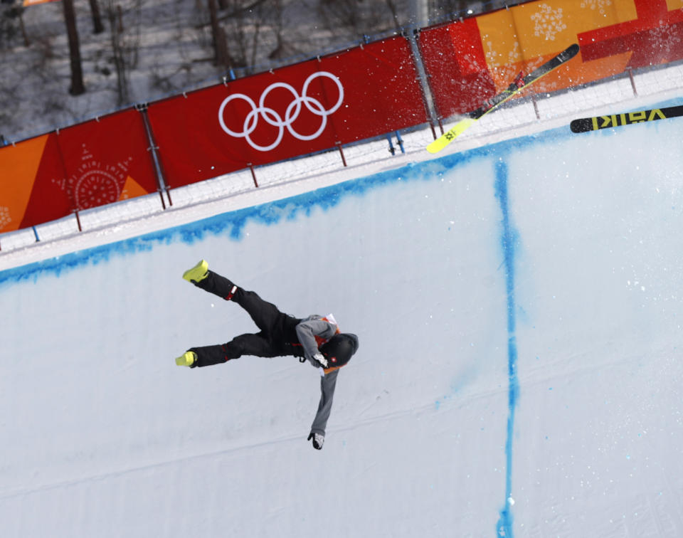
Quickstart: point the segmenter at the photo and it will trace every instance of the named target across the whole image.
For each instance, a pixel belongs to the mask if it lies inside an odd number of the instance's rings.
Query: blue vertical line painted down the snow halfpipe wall
[[[496,525],[499,536],[512,538],[512,439],[514,436],[514,413],[517,408],[517,338],[514,302],[514,254],[517,245],[517,232],[512,228],[507,194],[507,163],[501,158],[496,163],[496,198],[502,213],[501,247],[505,266],[505,288],[507,292],[507,373],[508,373],[508,416],[507,441],[505,443],[505,502]]]

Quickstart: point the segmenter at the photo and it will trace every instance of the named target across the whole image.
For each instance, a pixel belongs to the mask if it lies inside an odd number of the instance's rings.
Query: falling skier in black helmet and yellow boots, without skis
[[[312,315],[299,319],[283,314],[275,305],[261,299],[255,292],[243,290],[227,278],[208,270],[206,260],[186,270],[183,278],[197,288],[236,302],[248,312],[260,332],[241,334],[226,344],[191,347],[176,359],[178,366],[211,366],[238,359],[243,355],[256,357],[300,357],[321,369],[320,403],[307,441],[320,450],[325,440],[325,427],[332,410],[332,396],[337,385],[339,368],[358,349],[355,334],[339,332],[332,315]]]

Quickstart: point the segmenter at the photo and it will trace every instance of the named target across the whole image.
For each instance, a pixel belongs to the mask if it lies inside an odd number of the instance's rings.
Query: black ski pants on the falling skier
[[[260,332],[240,334],[226,344],[191,347],[189,351],[197,354],[197,362],[193,366],[211,366],[238,359],[243,355],[257,357],[280,357],[282,355],[302,355],[302,349],[296,336],[296,326],[301,321],[283,314],[272,303],[261,299],[253,291],[235,288],[235,284],[227,278],[209,270],[206,278],[194,283],[197,288],[218,295],[222,299],[236,302],[250,315]]]

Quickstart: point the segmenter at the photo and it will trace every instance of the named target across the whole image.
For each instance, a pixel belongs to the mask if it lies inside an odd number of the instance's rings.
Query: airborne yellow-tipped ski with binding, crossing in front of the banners
[[[469,112],[462,120],[457,122],[453,127],[450,128],[443,135],[435,139],[434,142],[427,146],[427,151],[430,153],[440,152],[443,148],[448,146],[453,140],[455,140],[459,135],[462,135],[465,130],[469,129],[474,122],[480,119],[480,117],[487,115],[492,110],[502,105],[510,97],[519,93],[521,90],[526,88],[528,85],[533,84],[536,80],[539,80],[544,75],[547,75],[552,70],[558,68],[563,63],[571,60],[574,56],[578,54],[578,45],[574,43],[572,46],[566,48],[566,50],[559,53],[554,58],[551,58],[543,65],[540,65],[529,75],[520,75],[514,80],[514,82],[503,90],[501,93],[494,95],[489,100],[487,100],[481,107],[477,110]]]

